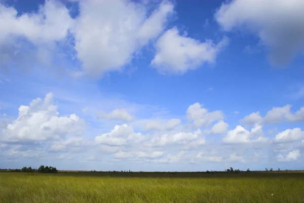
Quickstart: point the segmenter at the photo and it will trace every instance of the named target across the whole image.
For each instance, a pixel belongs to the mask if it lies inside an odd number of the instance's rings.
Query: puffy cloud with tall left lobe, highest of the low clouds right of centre
[[[224,114],[221,111],[208,112],[201,104],[195,103],[188,107],[187,118],[194,121],[195,127],[207,127],[214,121],[224,119]]]

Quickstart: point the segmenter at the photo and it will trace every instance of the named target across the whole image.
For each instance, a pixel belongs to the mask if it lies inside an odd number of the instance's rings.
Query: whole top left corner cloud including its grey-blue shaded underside
[[[6,67],[8,62],[24,66],[33,59],[36,63],[49,63],[56,55],[51,53],[56,43],[66,41],[73,20],[58,1],[46,1],[37,13],[20,16],[13,7],[0,3],[0,26],[1,66]]]

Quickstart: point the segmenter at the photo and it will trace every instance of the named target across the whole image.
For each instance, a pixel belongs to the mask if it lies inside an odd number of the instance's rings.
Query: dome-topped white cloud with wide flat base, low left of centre
[[[97,144],[108,146],[122,146],[129,143],[139,143],[147,139],[147,136],[141,133],[135,133],[132,126],[127,124],[116,125],[108,133],[101,134],[95,138]]]

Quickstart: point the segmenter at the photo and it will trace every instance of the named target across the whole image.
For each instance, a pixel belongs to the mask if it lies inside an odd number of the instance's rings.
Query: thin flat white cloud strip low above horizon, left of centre
[[[143,152],[143,151],[119,151],[115,154],[113,154],[114,158],[117,159],[140,159],[140,158],[146,158],[146,159],[156,159],[161,156],[163,156],[165,152],[164,151],[154,151],[154,152]]]

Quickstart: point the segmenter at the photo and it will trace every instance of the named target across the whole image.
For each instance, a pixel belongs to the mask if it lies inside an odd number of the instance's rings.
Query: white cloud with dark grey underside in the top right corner
[[[246,30],[270,51],[271,63],[286,66],[304,50],[304,2],[301,0],[234,0],[215,14],[221,27]]]

